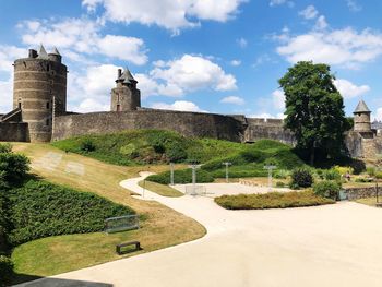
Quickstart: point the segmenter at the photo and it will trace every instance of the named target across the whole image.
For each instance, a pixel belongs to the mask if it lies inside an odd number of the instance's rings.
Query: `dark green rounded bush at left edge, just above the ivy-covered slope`
[[[25,155],[0,153],[0,180],[19,181],[29,170],[29,159]]]

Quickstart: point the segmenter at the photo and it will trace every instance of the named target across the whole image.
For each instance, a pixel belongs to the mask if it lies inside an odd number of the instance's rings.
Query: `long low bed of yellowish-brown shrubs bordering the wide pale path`
[[[216,198],[215,202],[227,210],[287,208],[335,203],[333,200],[314,195],[312,191],[223,195]]]

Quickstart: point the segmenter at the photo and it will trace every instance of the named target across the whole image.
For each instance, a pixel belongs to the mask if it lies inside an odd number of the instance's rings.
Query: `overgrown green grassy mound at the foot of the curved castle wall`
[[[203,164],[199,171],[199,180],[203,182],[225,177],[225,162],[232,164],[229,174],[234,178],[266,176],[266,164],[274,164],[278,169],[293,169],[303,165],[289,145],[272,140],[242,144],[212,139],[187,139],[175,132],[158,130],[77,136],[52,145],[67,152],[126,166],[198,162]],[[188,182],[190,178],[190,170],[176,171],[178,183]],[[168,172],[150,178],[159,183],[169,183],[168,179]]]

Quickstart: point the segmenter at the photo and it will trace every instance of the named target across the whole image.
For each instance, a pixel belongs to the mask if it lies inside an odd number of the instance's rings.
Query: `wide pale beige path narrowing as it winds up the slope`
[[[121,186],[143,195],[136,184],[143,178]],[[382,286],[382,210],[338,203],[226,211],[205,196],[171,199],[144,191],[144,199],[195,218],[208,234],[24,286]]]

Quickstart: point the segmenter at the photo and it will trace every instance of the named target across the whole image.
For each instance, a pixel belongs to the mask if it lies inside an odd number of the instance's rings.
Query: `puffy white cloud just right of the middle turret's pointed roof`
[[[212,88],[236,89],[236,79],[202,56],[184,55],[172,61],[157,61],[148,75],[138,74],[144,96],[182,96],[188,92]],[[147,94],[146,94],[147,93]]]

